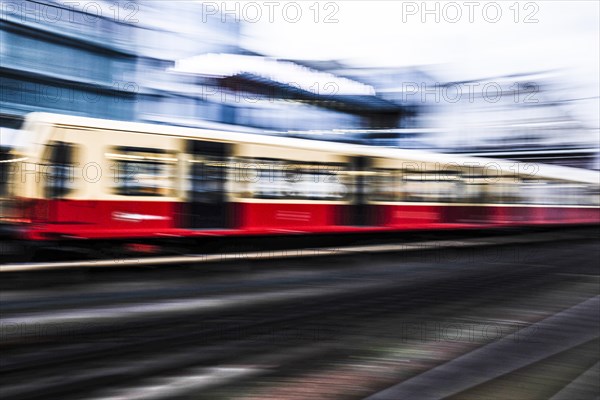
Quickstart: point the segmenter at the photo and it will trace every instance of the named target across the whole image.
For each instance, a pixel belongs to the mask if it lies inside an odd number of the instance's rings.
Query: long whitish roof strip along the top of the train
[[[326,142],[301,138],[281,137],[270,131],[264,134],[228,132],[212,129],[188,128],[171,125],[150,124],[142,122],[129,122],[88,118],[80,116],[62,115],[35,112],[26,117],[24,129],[34,130],[36,125],[77,126],[82,128],[99,128],[117,131],[144,132],[165,136],[178,136],[186,138],[203,138],[225,142],[243,142],[248,144],[263,144],[282,147],[295,147],[304,150],[349,154],[356,156],[381,157],[405,160],[417,163],[430,164],[458,164],[459,166],[485,167],[493,165],[495,170],[506,175],[526,175],[552,180],[563,180],[575,183],[600,184],[598,171],[562,167],[548,164],[520,163],[511,160],[498,160],[479,157],[460,156],[455,154],[434,153],[423,150],[384,148],[376,146],[356,145],[339,142]],[[536,171],[531,171],[537,169]]]

